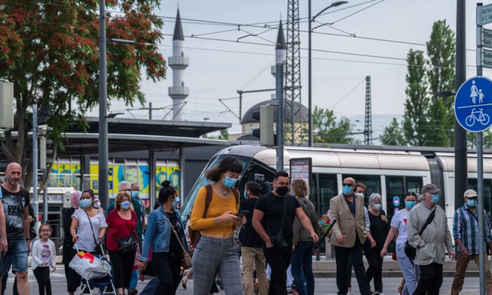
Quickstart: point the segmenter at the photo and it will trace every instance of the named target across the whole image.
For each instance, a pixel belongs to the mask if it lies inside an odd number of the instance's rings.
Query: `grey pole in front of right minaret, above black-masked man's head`
[[[283,63],[276,63],[276,96],[277,96],[277,171],[283,171]]]

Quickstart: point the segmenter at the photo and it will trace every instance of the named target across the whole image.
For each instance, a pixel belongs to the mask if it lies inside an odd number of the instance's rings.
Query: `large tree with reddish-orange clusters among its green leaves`
[[[27,171],[23,177],[27,188],[32,179],[30,107],[51,105],[50,136],[55,146],[63,147],[63,132],[82,124],[86,112],[98,104],[97,3],[0,0],[0,78],[14,84],[18,131],[16,138],[13,131],[5,132],[1,151]],[[122,11],[106,13],[108,38],[138,43],[108,43],[108,103],[143,103],[141,71],[154,81],[166,74],[164,58],[152,45],[162,39],[162,19],[152,13],[160,0],[107,0],[106,5],[108,11]]]

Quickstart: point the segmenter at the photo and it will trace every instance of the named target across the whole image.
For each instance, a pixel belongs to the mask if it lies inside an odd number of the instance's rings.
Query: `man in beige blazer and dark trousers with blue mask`
[[[367,232],[365,231],[364,197],[358,197],[352,191],[355,185],[354,178],[345,178],[342,194],[330,200],[330,223],[333,232],[330,242],[335,246],[337,261],[338,294],[345,295],[347,286],[347,261],[351,259],[358,282],[358,289],[362,295],[378,294],[370,291],[368,278],[362,260],[362,250]]]

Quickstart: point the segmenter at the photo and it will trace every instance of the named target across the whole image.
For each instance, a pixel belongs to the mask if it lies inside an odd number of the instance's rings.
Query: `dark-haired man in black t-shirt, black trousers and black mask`
[[[318,235],[299,201],[289,192],[289,173],[279,171],[273,179],[273,192],[261,196],[254,206],[253,228],[261,237],[266,262],[271,267],[268,294],[287,294],[287,268],[292,256],[292,225],[297,217],[313,242]]]

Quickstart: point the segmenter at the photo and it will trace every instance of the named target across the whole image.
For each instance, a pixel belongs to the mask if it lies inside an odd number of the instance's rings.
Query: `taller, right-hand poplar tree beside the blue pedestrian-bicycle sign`
[[[455,89],[455,34],[446,20],[434,22],[427,42],[427,81],[432,95],[427,129],[429,146],[453,146],[453,100],[439,95]]]

